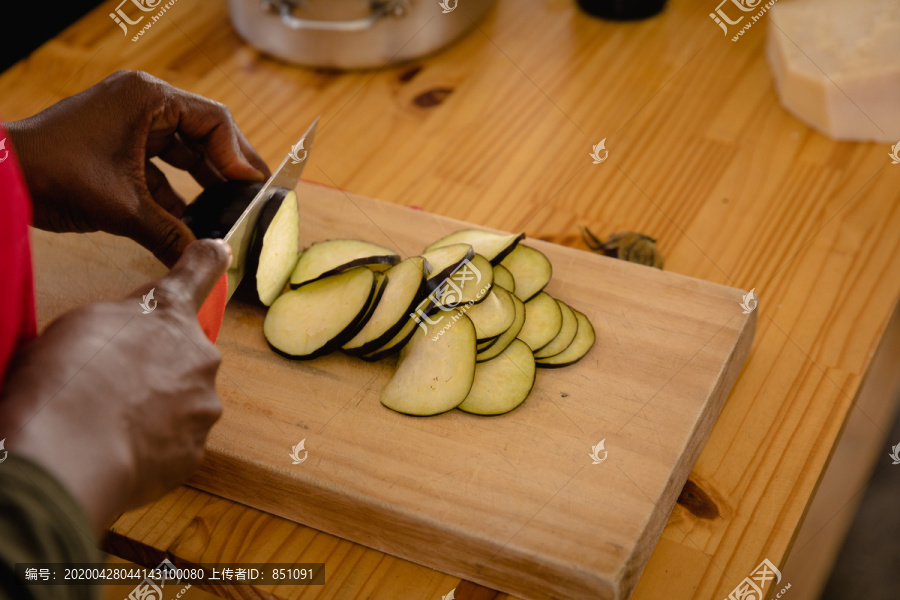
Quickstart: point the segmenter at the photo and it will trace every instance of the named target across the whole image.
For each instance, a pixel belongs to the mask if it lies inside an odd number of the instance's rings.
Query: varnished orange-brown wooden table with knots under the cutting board
[[[900,295],[900,167],[886,146],[831,141],[781,109],[764,27],[732,43],[706,0],[637,24],[501,0],[443,53],[337,74],[260,57],[224,0],[180,0],[137,43],[108,17],[116,4],[2,75],[4,118],[143,69],[226,103],[270,163],[321,114],[313,181],[581,248],[580,225],[637,230],[671,271],[755,288],[756,342],[633,597],[718,600],[763,558],[783,585],[795,540],[825,543],[801,525],[845,424],[883,439],[891,412],[871,418],[857,400]],[[609,159],[593,165],[604,138]],[[880,397],[898,389],[880,381]],[[865,472],[878,450],[849,462]],[[846,521],[863,485],[820,506],[819,524]],[[146,562],[327,562],[329,584],[303,598],[506,597],[186,487],[123,515],[109,547]]]

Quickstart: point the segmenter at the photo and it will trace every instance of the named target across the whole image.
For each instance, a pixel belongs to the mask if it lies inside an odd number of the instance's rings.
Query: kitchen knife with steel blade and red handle
[[[303,169],[306,167],[309,153],[312,151],[318,124],[319,117],[316,117],[316,120],[312,122],[306,133],[300,138],[300,141],[291,148],[288,155],[284,157],[284,160],[272,173],[272,176],[269,177],[256,196],[253,197],[253,200],[247,205],[247,208],[225,235],[224,240],[231,247],[231,267],[216,282],[216,286],[197,313],[200,327],[203,329],[206,337],[213,343],[219,336],[222,320],[225,318],[225,305],[244,278],[244,271],[247,266],[247,250],[250,248],[250,242],[253,240],[259,215],[276,188],[293,190],[297,187],[300,176],[303,175]]]

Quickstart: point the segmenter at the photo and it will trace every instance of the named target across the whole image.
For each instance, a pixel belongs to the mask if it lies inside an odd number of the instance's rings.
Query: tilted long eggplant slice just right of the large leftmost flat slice
[[[388,281],[371,318],[343,346],[344,352],[360,356],[386,344],[403,328],[425,291],[425,259],[407,258],[385,272]]]

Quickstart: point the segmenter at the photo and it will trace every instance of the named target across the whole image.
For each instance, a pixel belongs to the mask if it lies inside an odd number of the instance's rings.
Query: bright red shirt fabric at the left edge
[[[0,127],[0,389],[16,350],[37,335],[31,271],[31,200]]]

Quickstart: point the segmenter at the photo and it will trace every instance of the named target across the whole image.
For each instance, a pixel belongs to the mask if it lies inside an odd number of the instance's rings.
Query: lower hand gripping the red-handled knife
[[[59,479],[98,534],[200,462],[222,409],[220,355],[197,310],[230,257],[221,241],[195,242],[166,277],[63,315],[16,357],[0,395],[0,437]],[[151,288],[157,304],[142,314]]]

